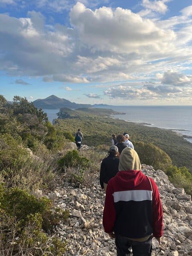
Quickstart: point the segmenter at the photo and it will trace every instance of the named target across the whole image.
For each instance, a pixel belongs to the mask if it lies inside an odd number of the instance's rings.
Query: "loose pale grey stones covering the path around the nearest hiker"
[[[153,241],[152,255],[192,256],[192,201],[184,189],[175,188],[167,175],[152,166],[142,166],[159,188],[163,207],[162,244]],[[115,242],[103,230],[102,213],[105,193],[99,185],[99,174],[91,188],[76,188],[65,179],[47,195],[55,204],[70,211],[70,218],[53,227],[53,234],[67,241],[67,256],[116,256]]]

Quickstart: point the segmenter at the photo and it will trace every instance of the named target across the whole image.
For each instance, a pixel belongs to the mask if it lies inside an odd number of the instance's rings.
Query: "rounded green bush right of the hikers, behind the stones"
[[[154,169],[164,171],[172,165],[172,160],[168,154],[151,143],[136,142],[134,143],[134,149],[137,151],[141,163],[151,165]]]

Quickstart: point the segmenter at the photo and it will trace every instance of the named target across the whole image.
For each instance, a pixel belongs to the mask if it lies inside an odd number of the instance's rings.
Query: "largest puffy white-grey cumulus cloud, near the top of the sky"
[[[81,43],[92,51],[164,51],[176,38],[175,32],[159,29],[152,20],[120,7],[114,12],[108,7],[92,11],[78,2],[70,12],[70,21]]]

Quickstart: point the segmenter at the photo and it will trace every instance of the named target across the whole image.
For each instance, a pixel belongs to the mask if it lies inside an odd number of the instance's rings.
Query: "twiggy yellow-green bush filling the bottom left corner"
[[[56,237],[47,237],[42,232],[41,214],[29,214],[23,221],[0,209],[0,252],[2,256],[33,255],[61,256],[66,250],[66,243]]]

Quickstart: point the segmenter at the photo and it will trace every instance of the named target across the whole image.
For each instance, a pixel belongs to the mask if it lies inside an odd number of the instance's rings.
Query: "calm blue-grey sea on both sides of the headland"
[[[185,140],[192,143],[192,106],[109,106],[108,108],[124,113],[113,115],[113,118],[169,129],[181,135],[191,136]],[[56,113],[59,109],[44,109],[44,112],[52,122],[57,118]]]

